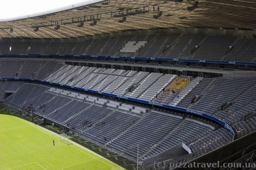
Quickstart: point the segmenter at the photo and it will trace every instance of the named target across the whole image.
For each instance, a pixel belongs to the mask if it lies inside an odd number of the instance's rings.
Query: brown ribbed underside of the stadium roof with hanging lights
[[[193,6],[196,8],[187,9]],[[0,37],[71,38],[159,28],[256,30],[256,2],[205,0],[199,1],[196,6],[196,1],[189,0],[102,1],[56,13],[0,22]]]

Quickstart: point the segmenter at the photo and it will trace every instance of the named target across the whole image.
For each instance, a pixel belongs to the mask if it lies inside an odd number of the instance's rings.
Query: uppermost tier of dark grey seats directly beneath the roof
[[[129,41],[146,44],[136,52],[122,52]],[[0,54],[103,55],[254,62],[255,44],[256,40],[253,39],[225,35],[162,33],[104,37],[79,42],[26,40],[20,43],[1,40]]]

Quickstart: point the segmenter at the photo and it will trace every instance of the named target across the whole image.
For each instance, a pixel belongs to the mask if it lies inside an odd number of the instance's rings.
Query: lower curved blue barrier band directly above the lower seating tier
[[[160,103],[156,103],[156,102],[148,102],[148,101],[144,101],[144,100],[140,100],[140,99],[128,98],[128,97],[122,96],[122,95],[116,95],[116,94],[111,94],[111,93],[106,93],[106,92],[101,92],[101,91],[96,91],[96,90],[90,90],[90,89],[81,88],[81,87],[75,87],[75,86],[69,86],[69,85],[65,85],[65,84],[48,82],[48,81],[45,81],[45,80],[30,79],[30,78],[0,78],[0,80],[3,80],[3,79],[4,80],[20,80],[20,81],[40,82],[40,83],[51,84],[51,85],[60,86],[60,87],[66,87],[66,88],[82,90],[82,91],[87,91],[87,92],[92,92],[92,93],[97,93],[97,94],[103,94],[103,95],[107,95],[107,96],[112,96],[114,98],[125,99],[125,100],[129,100],[129,101],[133,101],[133,102],[139,102],[139,103],[143,103],[143,104],[149,104],[149,105],[153,105],[153,106],[159,106],[159,107],[163,107],[163,108],[183,111],[183,112],[190,113],[190,114],[196,114],[196,115],[208,118],[208,119],[220,124],[225,129],[227,129],[232,134],[232,136],[234,138],[234,131],[227,123],[225,123],[224,121],[222,121],[219,118],[216,118],[214,116],[211,116],[211,115],[208,115],[208,114],[205,114],[205,113],[202,113],[202,112],[198,112],[198,111],[195,111],[195,110],[190,110],[190,109],[185,109],[185,108],[170,106],[170,105],[164,105],[164,104],[160,104]]]

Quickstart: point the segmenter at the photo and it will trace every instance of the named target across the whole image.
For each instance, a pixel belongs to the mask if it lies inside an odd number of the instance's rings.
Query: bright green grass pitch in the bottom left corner
[[[0,114],[0,169],[124,168],[76,144],[65,144],[58,134],[24,119]]]

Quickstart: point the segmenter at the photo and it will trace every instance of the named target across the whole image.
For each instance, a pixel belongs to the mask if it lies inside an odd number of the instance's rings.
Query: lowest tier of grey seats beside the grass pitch
[[[23,84],[4,102],[25,112],[28,107],[32,108],[29,113],[66,126],[81,137],[131,160],[136,159],[138,145],[139,157],[143,159],[180,142],[190,145],[194,156],[199,156],[231,141],[228,131],[219,132],[214,123],[193,116],[149,110],[37,84]],[[210,136],[217,134],[222,136],[220,140],[215,139],[218,144],[205,151],[196,150],[198,145],[194,143],[211,140]]]

